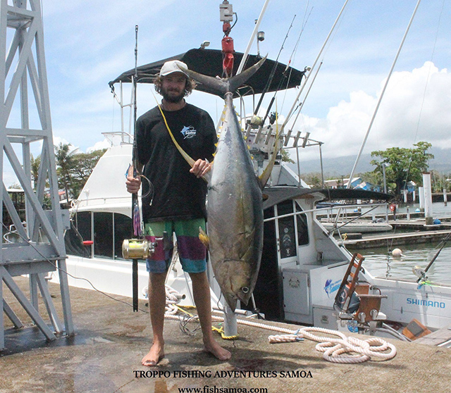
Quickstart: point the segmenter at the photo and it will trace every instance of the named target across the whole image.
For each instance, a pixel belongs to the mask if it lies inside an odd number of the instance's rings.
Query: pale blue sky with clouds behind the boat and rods
[[[54,142],[79,151],[104,147],[102,132],[121,130],[120,108],[108,82],[138,66],[211,42],[221,49],[222,1],[42,0],[44,45]],[[230,36],[244,51],[264,0],[230,1],[237,23]],[[312,66],[345,0],[271,0],[259,30],[262,55],[303,70]],[[323,142],[323,158],[357,156],[416,0],[350,0],[319,58],[321,69],[304,102],[295,131]],[[451,148],[451,4],[423,0],[390,78],[364,154],[428,141]],[[294,22],[292,23],[293,18]],[[280,51],[289,31],[283,49]],[[257,52],[252,45],[251,53]],[[312,73],[310,80],[313,79]],[[129,88],[129,87],[127,87]],[[155,105],[153,86],[137,90],[138,116]],[[307,89],[304,89],[304,93]],[[298,90],[277,96],[284,120]],[[272,94],[266,94],[261,111]],[[130,89],[125,89],[130,99]],[[216,121],[223,102],[194,92],[188,101]],[[238,103],[237,103],[238,105]],[[248,104],[249,108],[251,104]],[[127,121],[128,124],[128,121]],[[127,127],[128,131],[128,127]],[[299,160],[316,159],[315,147],[300,149]],[[291,150],[292,158],[296,158]],[[357,168],[358,171],[358,168]]]

